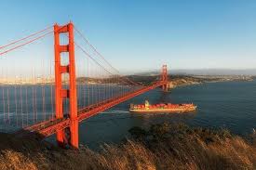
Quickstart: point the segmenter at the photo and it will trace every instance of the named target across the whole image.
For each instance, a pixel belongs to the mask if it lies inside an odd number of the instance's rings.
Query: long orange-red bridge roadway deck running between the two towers
[[[97,103],[94,105],[90,105],[80,111],[78,111],[78,121],[81,122],[83,120],[88,119],[89,117],[100,113],[101,111],[105,111],[114,107],[115,105],[122,103],[130,98],[134,98],[139,96],[147,91],[155,89],[158,86],[167,85],[167,81],[158,81],[155,82],[153,85],[142,86],[141,88],[133,91],[128,92],[125,95],[110,98],[107,100],[102,101],[101,103]],[[34,124],[28,127],[25,127],[23,130],[38,133],[44,137],[51,136],[56,133],[56,130],[61,130],[70,125],[70,119],[68,117],[62,119],[51,119],[45,122],[41,122],[38,124]]]

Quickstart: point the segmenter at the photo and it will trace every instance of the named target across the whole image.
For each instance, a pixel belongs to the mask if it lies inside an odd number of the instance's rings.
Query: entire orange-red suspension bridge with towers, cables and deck
[[[48,42],[39,46],[43,39]],[[60,145],[74,148],[79,122],[156,87],[168,90],[166,65],[151,85],[137,83],[120,75],[71,22],[0,46],[0,56],[1,130],[56,134]]]

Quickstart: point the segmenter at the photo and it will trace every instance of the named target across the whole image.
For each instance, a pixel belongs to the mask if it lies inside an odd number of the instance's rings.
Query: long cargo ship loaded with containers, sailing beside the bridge
[[[186,112],[195,111],[196,107],[193,103],[189,104],[172,104],[172,103],[160,103],[150,105],[148,100],[145,100],[144,104],[130,104],[130,112]]]

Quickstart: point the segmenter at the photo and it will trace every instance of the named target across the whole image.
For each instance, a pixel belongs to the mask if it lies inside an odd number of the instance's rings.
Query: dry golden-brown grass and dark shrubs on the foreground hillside
[[[133,127],[131,137],[101,151],[61,150],[34,138],[1,134],[0,169],[256,169],[253,137],[185,124]]]

